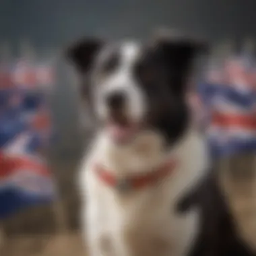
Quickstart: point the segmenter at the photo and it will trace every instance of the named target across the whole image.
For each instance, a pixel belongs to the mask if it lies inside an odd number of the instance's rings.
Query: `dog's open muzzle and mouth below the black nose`
[[[106,130],[116,143],[128,143],[137,135],[141,125],[127,116],[112,114],[106,122]]]

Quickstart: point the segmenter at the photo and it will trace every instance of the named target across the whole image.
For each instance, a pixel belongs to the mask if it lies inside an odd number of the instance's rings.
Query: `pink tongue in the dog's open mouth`
[[[131,138],[133,133],[135,132],[135,127],[132,125],[117,125],[117,124],[109,124],[108,132],[110,136],[118,142],[125,142]]]

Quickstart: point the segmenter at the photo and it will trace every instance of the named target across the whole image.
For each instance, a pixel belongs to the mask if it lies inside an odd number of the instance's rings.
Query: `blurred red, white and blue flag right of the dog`
[[[253,61],[236,56],[225,62],[225,83],[199,86],[210,117],[207,135],[214,156],[256,151],[255,71]]]

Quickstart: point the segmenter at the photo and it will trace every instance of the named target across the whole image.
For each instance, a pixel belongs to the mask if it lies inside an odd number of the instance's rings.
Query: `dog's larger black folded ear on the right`
[[[207,53],[207,43],[177,34],[161,34],[154,38],[154,46],[166,63],[172,91],[183,96],[194,59],[201,53]]]

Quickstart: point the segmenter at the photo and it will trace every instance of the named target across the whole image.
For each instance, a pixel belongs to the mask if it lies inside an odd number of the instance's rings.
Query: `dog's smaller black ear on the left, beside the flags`
[[[103,40],[98,38],[83,38],[67,47],[65,56],[75,65],[77,71],[88,73],[103,44]]]

